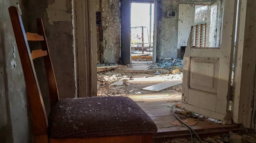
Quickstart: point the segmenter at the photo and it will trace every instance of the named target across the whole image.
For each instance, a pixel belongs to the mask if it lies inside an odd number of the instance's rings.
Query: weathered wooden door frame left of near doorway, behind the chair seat
[[[76,97],[97,96],[95,0],[72,0]]]

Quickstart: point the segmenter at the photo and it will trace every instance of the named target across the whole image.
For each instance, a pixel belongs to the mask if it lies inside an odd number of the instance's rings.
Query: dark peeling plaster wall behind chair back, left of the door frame
[[[36,18],[40,17],[44,22],[60,98],[76,97],[72,0],[30,0],[28,10],[29,32],[37,33]],[[32,50],[40,48],[35,42],[30,42],[29,46]],[[49,112],[49,92],[43,58],[35,59],[34,63],[45,107]]]

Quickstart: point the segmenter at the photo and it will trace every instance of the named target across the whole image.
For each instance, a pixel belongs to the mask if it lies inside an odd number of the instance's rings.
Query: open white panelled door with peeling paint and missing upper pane
[[[192,48],[190,32],[183,63],[182,108],[231,123],[230,83],[236,0],[224,0],[220,48]]]

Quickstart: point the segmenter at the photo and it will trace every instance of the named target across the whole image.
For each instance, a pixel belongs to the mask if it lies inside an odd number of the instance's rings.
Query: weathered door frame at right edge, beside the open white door
[[[237,44],[232,98],[235,123],[255,129],[256,125],[256,2],[238,0]]]

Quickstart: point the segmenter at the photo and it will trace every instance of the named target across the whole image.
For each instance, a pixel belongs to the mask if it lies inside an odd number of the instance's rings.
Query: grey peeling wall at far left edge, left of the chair
[[[25,0],[0,0],[0,142],[31,143],[31,116],[20,56],[17,51],[9,6],[21,8],[26,19]],[[27,27],[24,23],[25,28]]]

